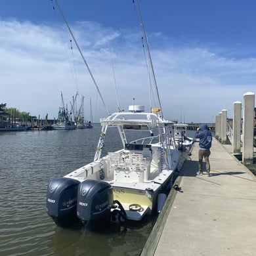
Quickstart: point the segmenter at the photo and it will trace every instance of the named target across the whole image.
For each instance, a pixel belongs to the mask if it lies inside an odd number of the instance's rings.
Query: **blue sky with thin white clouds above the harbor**
[[[69,110],[78,94],[76,108],[84,96],[85,119],[91,110],[93,122],[133,104],[148,110],[148,62],[133,0],[58,4],[95,83],[54,0],[0,1],[0,103],[53,119],[60,92]],[[232,117],[234,102],[243,106],[244,94],[255,93],[256,1],[139,6],[165,119],[211,123],[224,109]]]

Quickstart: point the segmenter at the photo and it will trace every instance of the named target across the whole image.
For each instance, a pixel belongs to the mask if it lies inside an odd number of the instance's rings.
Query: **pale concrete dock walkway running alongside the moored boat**
[[[213,138],[211,176],[196,175],[198,142],[184,161],[140,255],[256,255],[256,177]]]

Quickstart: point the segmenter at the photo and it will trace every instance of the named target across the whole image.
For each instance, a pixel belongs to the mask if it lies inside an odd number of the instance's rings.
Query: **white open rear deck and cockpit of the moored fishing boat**
[[[165,169],[160,173],[160,158],[157,156],[160,153],[156,149],[154,154],[156,156],[150,158],[146,151],[142,154],[129,150],[110,152],[101,161],[84,165],[65,177],[82,182],[85,179],[100,179],[100,175],[103,175],[102,180],[109,182],[112,186],[127,188],[136,186],[141,190],[150,186],[155,190],[158,189],[157,184],[163,184],[174,170]],[[153,186],[153,184],[156,185]]]

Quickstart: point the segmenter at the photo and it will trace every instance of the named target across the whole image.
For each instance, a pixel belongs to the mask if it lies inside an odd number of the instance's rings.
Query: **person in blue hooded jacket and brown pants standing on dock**
[[[211,154],[211,132],[209,131],[207,124],[202,124],[198,129],[196,129],[196,138],[199,140],[199,152],[198,152],[198,164],[199,164],[199,171],[197,172],[198,175],[203,174],[203,158],[206,163],[206,173],[207,176],[210,176],[210,162],[209,156]]]

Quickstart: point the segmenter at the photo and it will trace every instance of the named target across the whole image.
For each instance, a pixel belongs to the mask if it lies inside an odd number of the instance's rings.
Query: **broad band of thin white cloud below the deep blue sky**
[[[148,106],[148,74],[139,33],[116,31],[94,22],[77,22],[72,26],[108,110],[117,110],[108,42],[120,107],[127,109],[133,98],[137,104]],[[213,116],[223,108],[232,117],[232,103],[242,101],[247,91],[255,92],[254,58],[228,58],[219,49],[217,53],[209,47],[173,47],[171,40],[167,47],[167,37],[163,38],[165,46],[158,47],[156,41],[161,42],[163,35],[152,36],[154,47],[150,49],[166,118],[214,121]],[[73,41],[73,50],[70,49],[71,38],[59,24],[39,26],[15,20],[0,21],[1,102],[35,116],[49,114],[53,118],[61,104],[60,91],[69,104],[78,90],[85,96],[85,106],[89,106],[91,96],[94,121],[106,116]]]

